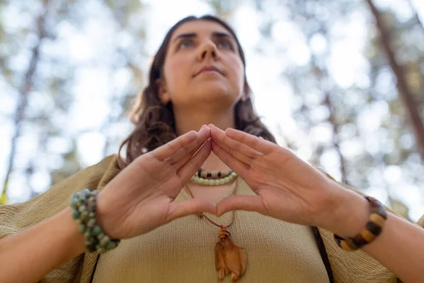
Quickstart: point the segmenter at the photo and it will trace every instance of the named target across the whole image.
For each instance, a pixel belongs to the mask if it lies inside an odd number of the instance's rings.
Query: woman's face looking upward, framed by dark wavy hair
[[[242,96],[245,81],[235,38],[213,21],[189,21],[174,31],[163,76],[160,98],[175,108],[198,103],[231,107]]]

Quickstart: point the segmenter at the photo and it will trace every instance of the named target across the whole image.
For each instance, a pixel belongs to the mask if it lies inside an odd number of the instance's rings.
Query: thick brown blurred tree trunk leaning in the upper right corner
[[[404,107],[406,108],[406,110],[408,110],[409,117],[411,118],[413,132],[415,133],[415,137],[416,137],[417,149],[418,151],[420,151],[421,158],[424,159],[423,121],[420,118],[417,103],[416,101],[414,101],[412,91],[409,88],[408,83],[406,83],[406,79],[404,76],[404,74],[406,74],[406,71],[404,71],[404,68],[401,67],[396,62],[396,56],[394,54],[394,51],[391,49],[391,44],[390,44],[391,34],[389,32],[389,29],[384,25],[384,22],[382,20],[382,17],[379,11],[375,7],[375,5],[372,3],[372,0],[366,0],[366,1],[371,8],[372,15],[375,17],[375,22],[381,35],[382,47],[384,48],[384,52],[387,55],[387,59],[389,60],[391,70],[394,72],[394,75],[396,76],[399,96],[401,96],[401,100],[404,103]]]

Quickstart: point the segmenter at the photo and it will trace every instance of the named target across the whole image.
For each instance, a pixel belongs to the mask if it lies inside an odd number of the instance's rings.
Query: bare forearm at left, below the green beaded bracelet
[[[84,237],[66,208],[40,224],[0,240],[0,282],[37,282],[85,250]]]

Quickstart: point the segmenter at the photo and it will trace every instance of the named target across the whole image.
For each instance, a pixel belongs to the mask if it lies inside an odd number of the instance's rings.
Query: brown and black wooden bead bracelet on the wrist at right
[[[367,243],[374,241],[375,238],[382,233],[384,222],[387,219],[386,209],[384,208],[384,205],[374,197],[365,196],[365,199],[370,202],[372,207],[370,220],[368,221],[367,226],[365,226],[365,229],[353,238],[344,239],[334,234],[334,240],[339,247],[343,248],[343,250],[358,250]]]

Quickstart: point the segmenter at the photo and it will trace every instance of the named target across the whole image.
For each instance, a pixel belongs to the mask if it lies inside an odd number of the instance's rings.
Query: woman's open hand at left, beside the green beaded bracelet
[[[98,195],[96,217],[103,231],[111,238],[131,238],[189,214],[216,214],[216,204],[206,200],[174,202],[211,153],[209,137],[207,126],[182,134],[116,175]]]

